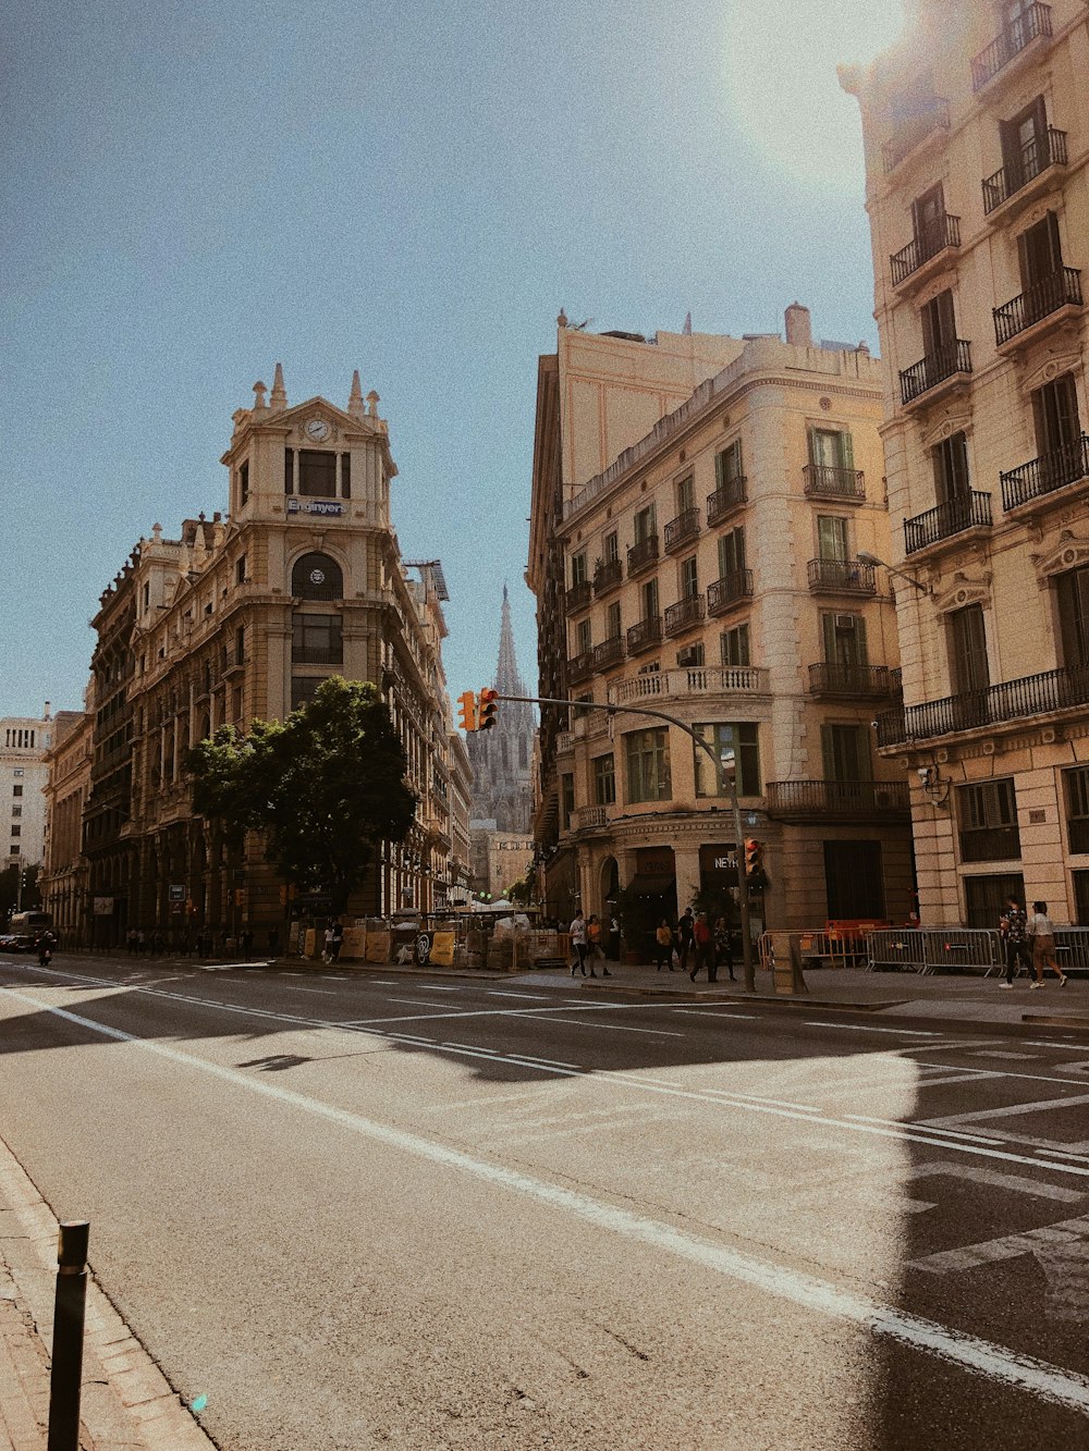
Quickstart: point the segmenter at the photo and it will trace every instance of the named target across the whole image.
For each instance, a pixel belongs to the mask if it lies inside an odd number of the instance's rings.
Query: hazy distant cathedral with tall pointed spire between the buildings
[[[507,586],[502,586],[499,660],[495,670],[499,695],[529,695],[514,654],[514,631]],[[533,707],[499,704],[495,724],[468,737],[473,769],[473,820],[492,820],[495,830],[530,834],[533,815]]]

